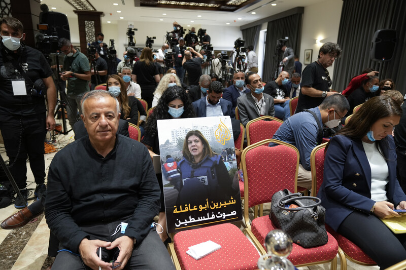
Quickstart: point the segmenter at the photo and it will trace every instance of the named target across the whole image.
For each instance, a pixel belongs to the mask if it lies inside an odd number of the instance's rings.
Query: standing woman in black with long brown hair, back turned
[[[141,98],[147,101],[148,107],[152,107],[153,93],[156,84],[159,83],[159,70],[154,64],[152,50],[144,48],[140,60],[134,63],[132,68],[132,81],[141,87]]]

